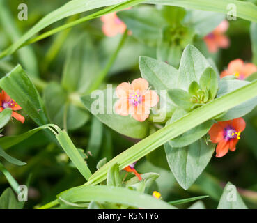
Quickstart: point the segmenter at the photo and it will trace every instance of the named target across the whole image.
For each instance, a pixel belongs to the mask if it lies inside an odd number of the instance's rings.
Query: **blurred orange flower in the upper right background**
[[[229,46],[229,39],[224,35],[228,29],[228,26],[228,21],[224,20],[214,31],[203,38],[209,52],[215,53],[219,48],[227,48]]]

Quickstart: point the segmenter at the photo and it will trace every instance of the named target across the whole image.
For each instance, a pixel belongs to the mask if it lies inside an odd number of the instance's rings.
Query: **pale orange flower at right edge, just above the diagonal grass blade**
[[[235,75],[237,79],[245,79],[254,72],[257,72],[257,67],[254,63],[244,63],[241,59],[235,59],[228,63],[228,69],[221,72],[221,78],[228,75]]]

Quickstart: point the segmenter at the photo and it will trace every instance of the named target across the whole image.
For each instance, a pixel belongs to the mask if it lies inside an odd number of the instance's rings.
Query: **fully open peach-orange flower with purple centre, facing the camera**
[[[123,82],[117,86],[115,111],[121,116],[129,114],[137,121],[145,121],[150,114],[150,107],[159,102],[159,96],[155,91],[148,89],[146,79],[138,78],[130,83]]]

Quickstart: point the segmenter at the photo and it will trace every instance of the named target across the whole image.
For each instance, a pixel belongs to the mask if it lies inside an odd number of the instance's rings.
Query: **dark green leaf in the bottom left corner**
[[[10,187],[1,194],[0,209],[21,209],[21,203],[22,202],[17,201],[17,198]]]

